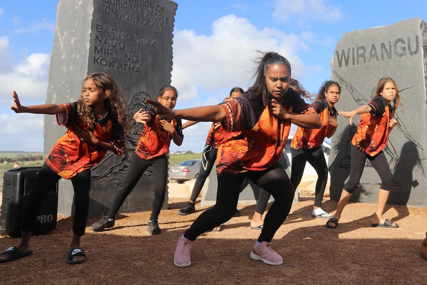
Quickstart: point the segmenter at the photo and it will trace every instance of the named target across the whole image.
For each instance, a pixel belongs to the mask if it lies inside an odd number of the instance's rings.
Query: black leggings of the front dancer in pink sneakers
[[[292,183],[283,167],[277,162],[265,171],[217,173],[217,177],[218,189],[215,206],[203,212],[184,233],[184,236],[190,240],[196,240],[205,231],[230,220],[239,199],[239,187],[243,180],[248,177],[274,198],[258,238],[258,241],[270,242],[274,233],[288,216],[294,198]]]

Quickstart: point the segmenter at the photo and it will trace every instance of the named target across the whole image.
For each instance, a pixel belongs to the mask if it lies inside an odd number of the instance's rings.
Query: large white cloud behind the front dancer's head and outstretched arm
[[[306,45],[296,35],[269,28],[258,30],[248,19],[224,16],[214,22],[209,37],[193,30],[175,33],[172,84],[184,101],[200,100],[200,90],[214,93],[234,86],[245,89],[251,83],[256,50],[286,57],[292,64],[292,75],[300,78],[308,70],[297,55],[300,49],[306,49]]]

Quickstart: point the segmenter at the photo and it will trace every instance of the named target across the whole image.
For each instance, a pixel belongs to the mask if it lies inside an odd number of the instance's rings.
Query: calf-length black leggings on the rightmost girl
[[[350,177],[344,185],[344,190],[349,193],[353,193],[354,189],[360,182],[360,177],[362,177],[367,158],[381,178],[381,189],[390,191],[391,183],[393,182],[393,174],[390,171],[390,167],[388,166],[384,153],[380,151],[377,155],[372,157],[354,145],[351,145]]]

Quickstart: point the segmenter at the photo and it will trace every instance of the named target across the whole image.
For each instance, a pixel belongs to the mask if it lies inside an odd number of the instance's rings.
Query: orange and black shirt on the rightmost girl
[[[387,145],[388,127],[393,109],[382,96],[369,103],[372,111],[362,114],[351,143],[370,156],[375,156]]]

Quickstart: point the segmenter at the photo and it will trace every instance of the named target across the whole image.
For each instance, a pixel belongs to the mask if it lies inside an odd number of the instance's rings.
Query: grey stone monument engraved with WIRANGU
[[[332,62],[332,80],[341,85],[337,110],[351,111],[367,104],[378,80],[390,76],[396,81],[405,107],[395,114],[398,124],[388,137],[384,150],[393,173],[387,203],[427,206],[426,185],[426,22],[412,18],[390,26],[345,33],[338,41]],[[350,173],[350,141],[360,115],[353,125],[338,116],[329,156],[330,197],[338,201]],[[381,180],[367,160],[351,202],[376,203]]]

